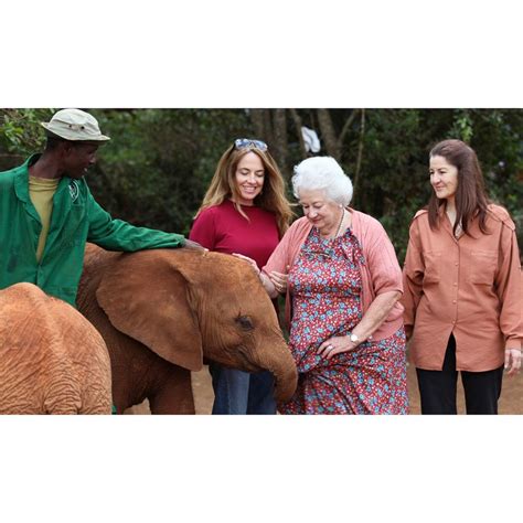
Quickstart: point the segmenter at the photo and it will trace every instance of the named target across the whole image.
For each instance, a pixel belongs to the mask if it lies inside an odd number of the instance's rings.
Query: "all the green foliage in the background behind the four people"
[[[40,121],[51,109],[0,110],[0,169],[40,150]],[[88,175],[93,193],[113,215],[137,225],[188,234],[216,163],[237,137],[257,136],[252,115],[243,109],[96,109],[103,132],[113,139],[99,150]],[[506,206],[523,228],[523,110],[521,109],[367,109],[361,132],[353,109],[330,109],[333,130],[343,135],[339,161],[354,177],[362,147],[353,205],[378,218],[403,260],[408,226],[430,195],[428,152],[438,141],[460,138],[480,158],[488,192]],[[306,125],[319,132],[316,109],[299,109]],[[274,111],[265,111],[271,121]],[[324,143],[324,138],[320,140]],[[287,111],[287,170],[302,159],[298,132]],[[320,154],[325,154],[324,148]],[[292,201],[293,198],[289,198]]]

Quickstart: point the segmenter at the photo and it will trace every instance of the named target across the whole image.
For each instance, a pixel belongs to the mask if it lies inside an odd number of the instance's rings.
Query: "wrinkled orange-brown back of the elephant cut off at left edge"
[[[110,414],[98,331],[32,284],[0,290],[0,414]]]

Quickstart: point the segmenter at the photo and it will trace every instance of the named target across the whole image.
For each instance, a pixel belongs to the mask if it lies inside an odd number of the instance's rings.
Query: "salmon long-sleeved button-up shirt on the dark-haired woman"
[[[489,206],[489,234],[478,221],[456,238],[445,212],[430,230],[428,212],[410,225],[405,258],[404,320],[418,369],[441,370],[451,333],[458,371],[481,372],[504,362],[504,349],[523,339],[521,265],[509,213]]]

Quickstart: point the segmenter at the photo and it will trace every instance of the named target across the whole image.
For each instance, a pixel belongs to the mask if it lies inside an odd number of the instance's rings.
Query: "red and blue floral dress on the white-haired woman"
[[[299,380],[292,398],[278,406],[281,414],[407,414],[403,327],[331,360],[316,353],[329,338],[350,334],[362,318],[360,264],[365,259],[350,230],[323,239],[312,227],[289,273],[289,342]]]

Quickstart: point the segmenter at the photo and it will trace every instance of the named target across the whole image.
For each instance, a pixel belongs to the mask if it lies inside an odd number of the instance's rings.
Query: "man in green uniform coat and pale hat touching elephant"
[[[0,172],[0,288],[29,281],[75,306],[86,242],[109,250],[194,246],[179,234],[113,220],[84,174],[110,138],[83,110],[58,110],[43,122],[42,154]]]

